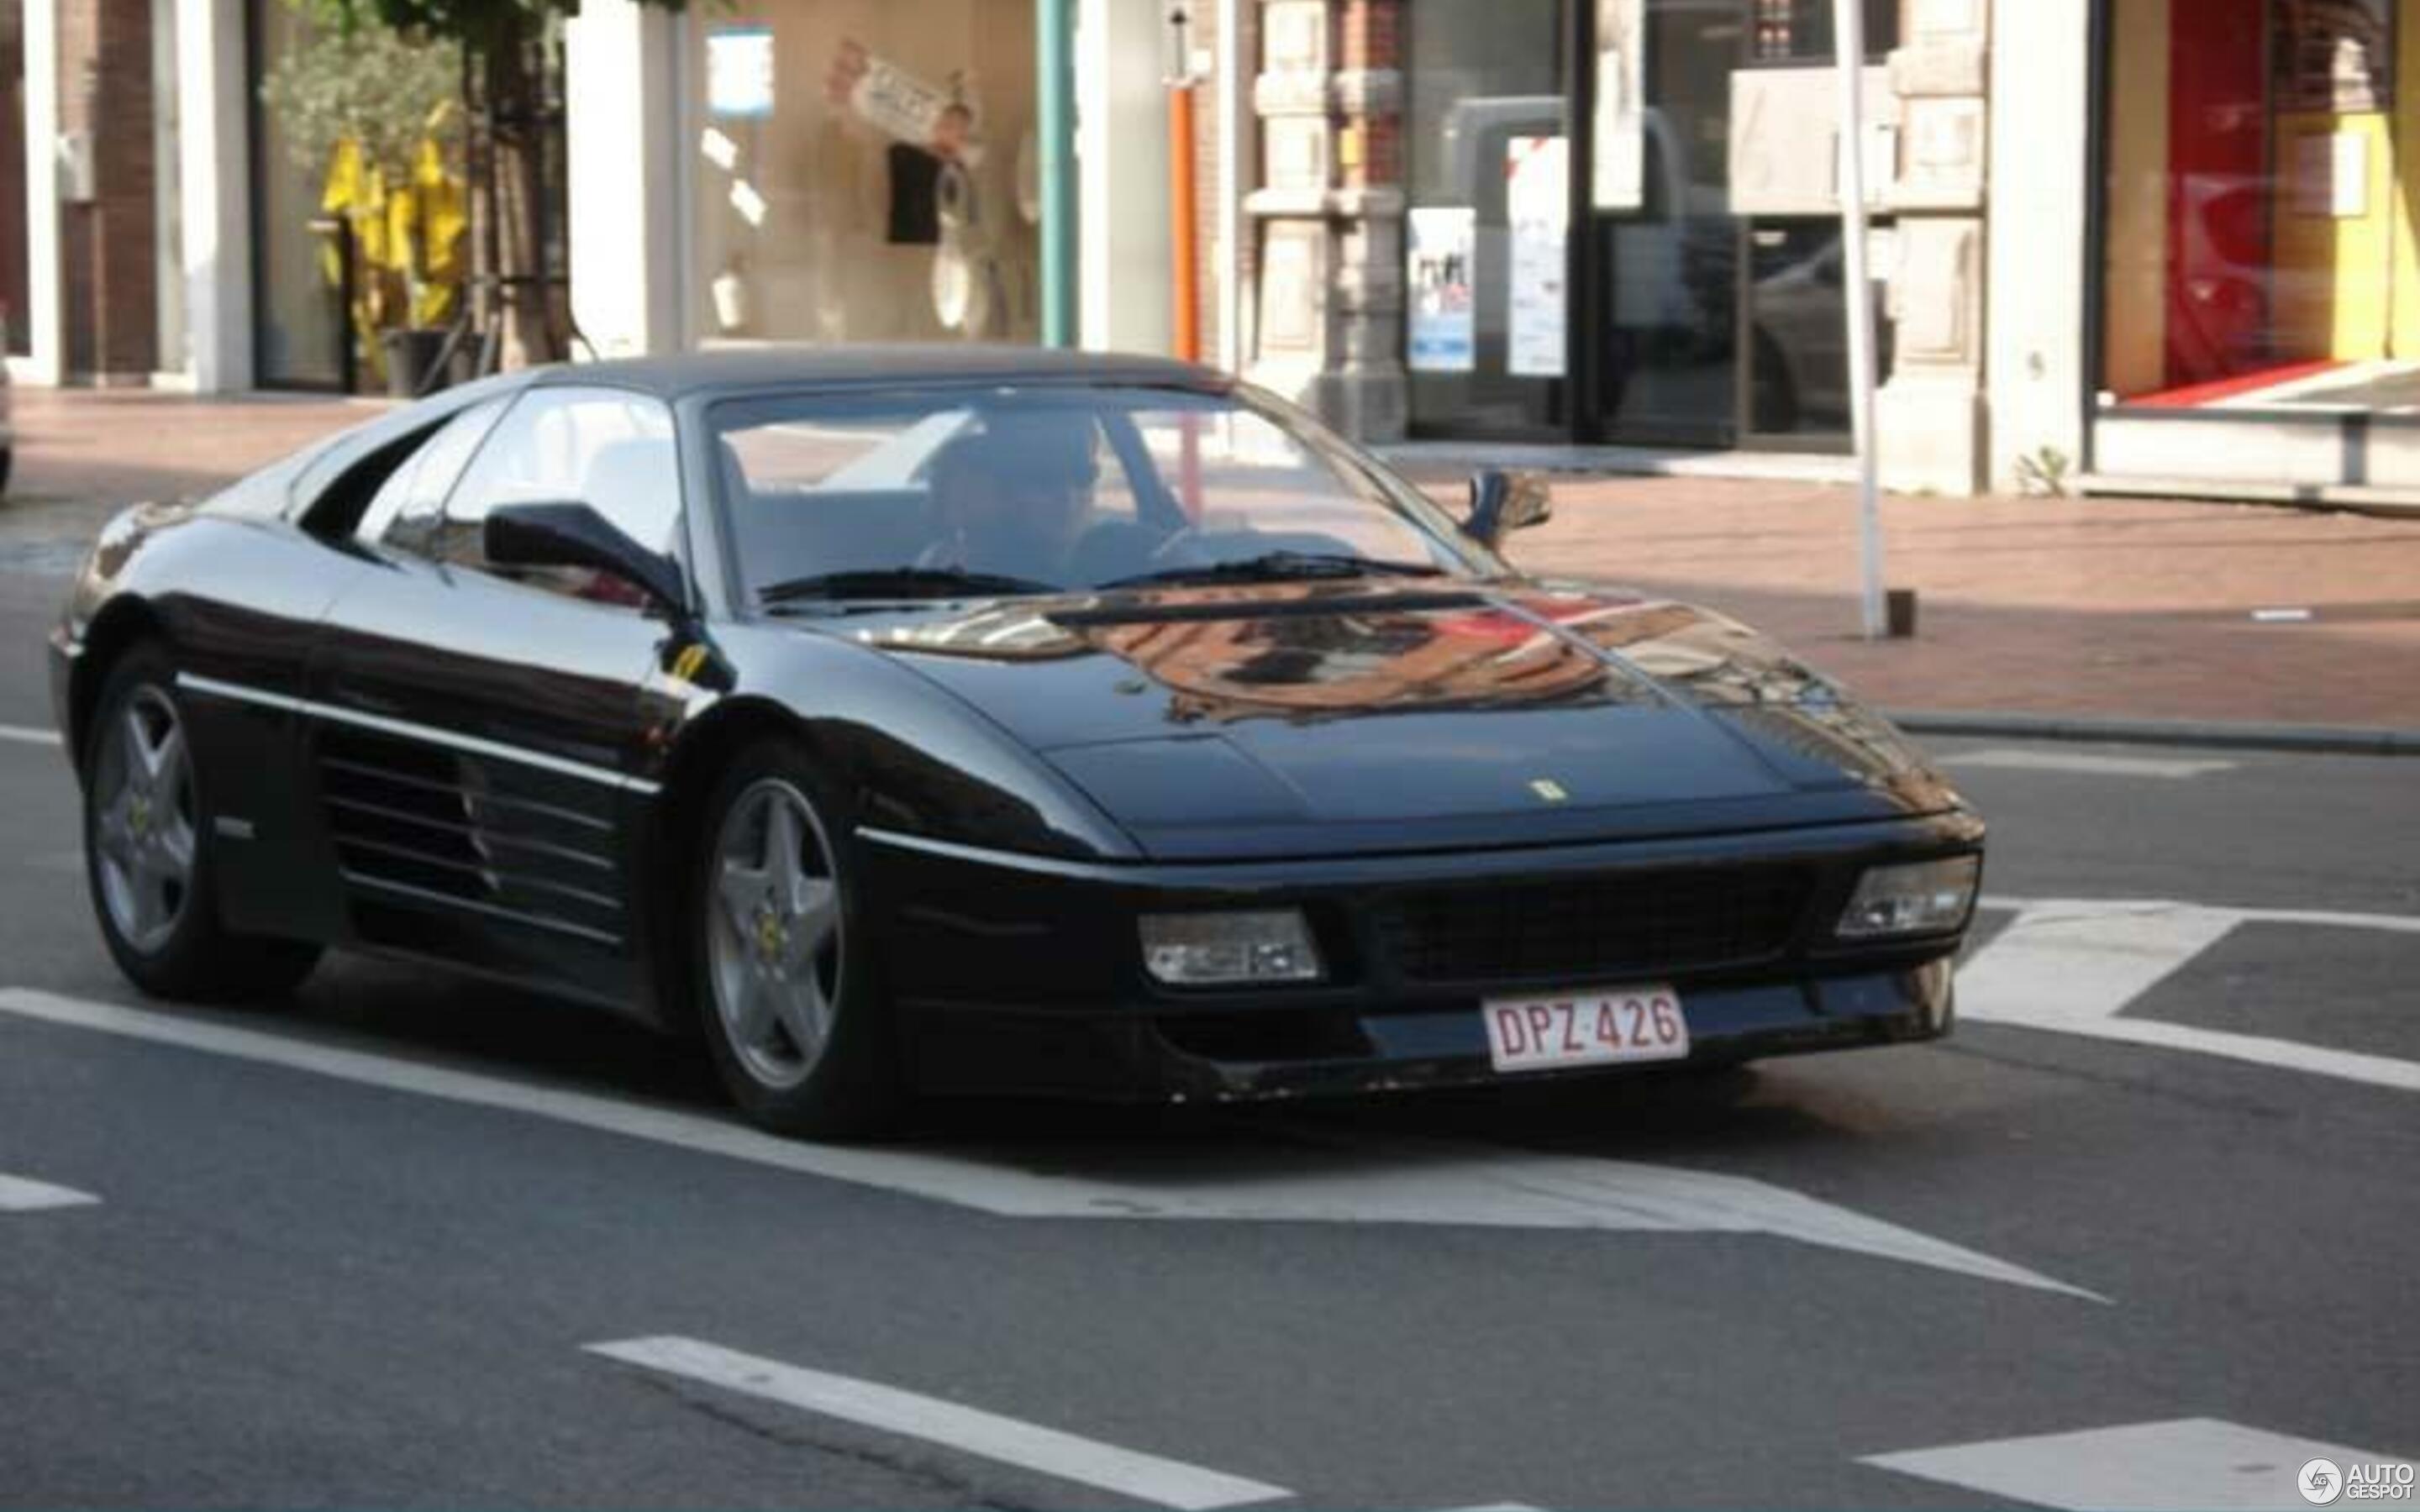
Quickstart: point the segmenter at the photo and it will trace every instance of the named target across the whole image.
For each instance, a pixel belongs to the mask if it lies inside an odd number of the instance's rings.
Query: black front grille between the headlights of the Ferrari
[[[1602,980],[1769,960],[1813,890],[1805,866],[1689,866],[1396,893],[1375,912],[1408,982]]]

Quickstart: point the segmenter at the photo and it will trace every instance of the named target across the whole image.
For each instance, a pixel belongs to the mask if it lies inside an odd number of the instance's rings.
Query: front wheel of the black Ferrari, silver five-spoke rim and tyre
[[[782,1135],[891,1127],[895,1040],[840,801],[796,745],[760,743],[724,772],[704,813],[690,977],[724,1089]]]

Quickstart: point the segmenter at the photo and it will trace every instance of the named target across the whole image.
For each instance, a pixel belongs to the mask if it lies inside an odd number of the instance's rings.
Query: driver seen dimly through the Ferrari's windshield
[[[1099,481],[1091,419],[992,414],[924,469],[934,539],[917,566],[1067,583]]]

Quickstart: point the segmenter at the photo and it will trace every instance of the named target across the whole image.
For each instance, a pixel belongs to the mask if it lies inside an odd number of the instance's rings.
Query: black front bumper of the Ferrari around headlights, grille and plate
[[[1692,1062],[1938,1038],[1963,931],[1846,948],[1830,924],[1866,866],[1975,852],[1982,823],[1953,813],[1655,844],[1203,866],[1048,861],[866,830],[859,839],[881,970],[922,1091],[1246,1101],[1607,1074],[1496,1072],[1481,1002],[1522,992],[1670,982]],[[1738,864],[1813,878],[1786,943],[1752,960],[1421,980],[1377,924],[1384,900],[1411,890]],[[1329,982],[1171,989],[1142,973],[1140,912],[1270,905],[1312,914]]]

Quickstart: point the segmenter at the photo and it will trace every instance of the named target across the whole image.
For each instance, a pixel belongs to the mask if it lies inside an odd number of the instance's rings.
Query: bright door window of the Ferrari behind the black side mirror
[[[428,552],[542,588],[590,593],[588,573],[523,573],[486,561],[486,515],[499,503],[586,503],[649,552],[675,554],[680,460],[673,414],[646,394],[603,387],[525,392],[445,496]]]

